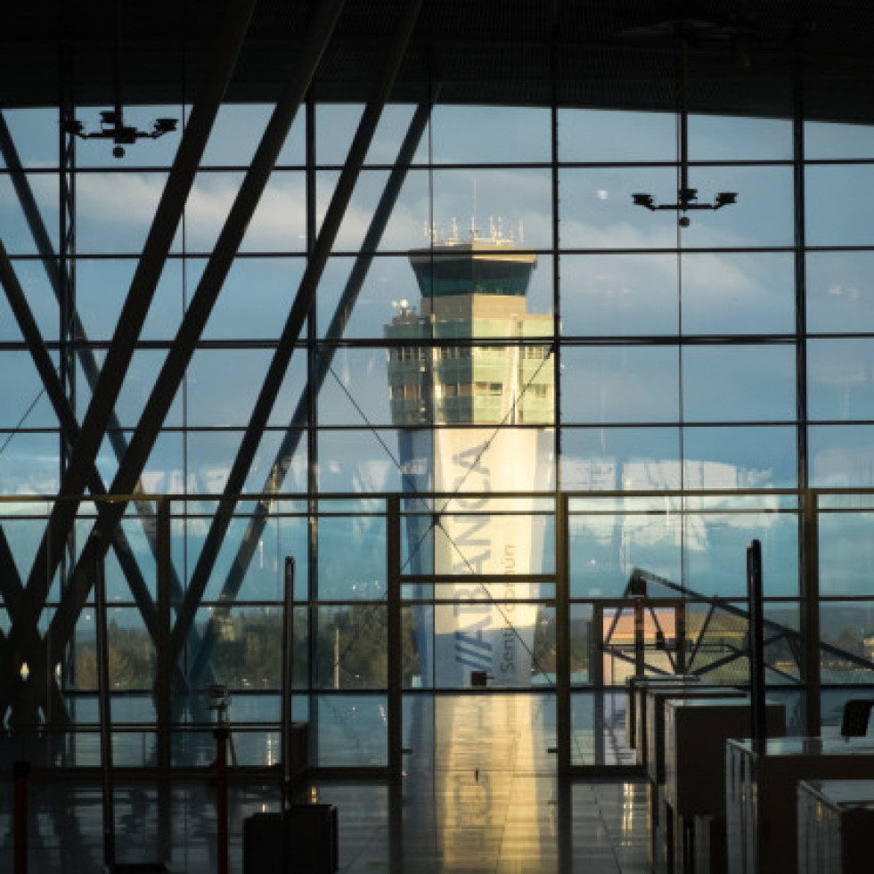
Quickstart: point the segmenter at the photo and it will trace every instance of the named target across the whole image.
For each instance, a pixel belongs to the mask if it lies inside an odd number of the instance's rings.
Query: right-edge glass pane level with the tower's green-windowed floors
[[[874,419],[874,340],[811,340],[807,372],[811,419]]]

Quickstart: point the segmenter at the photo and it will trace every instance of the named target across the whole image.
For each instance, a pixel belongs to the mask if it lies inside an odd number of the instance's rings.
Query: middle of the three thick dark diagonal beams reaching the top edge
[[[183,379],[185,368],[191,360],[208,316],[212,312],[228,271],[233,265],[233,258],[240,247],[243,234],[249,226],[249,221],[255,212],[282,145],[285,143],[300,104],[312,82],[315,70],[318,68],[324,50],[331,39],[344,3],[345,0],[331,0],[331,2],[322,4],[315,15],[306,46],[298,58],[298,69],[289,86],[284,89],[266,127],[255,157],[243,179],[240,191],[237,192],[237,197],[225,221],[222,233],[216,241],[216,247],[200,278],[191,304],[185,312],[179,331],[176,333],[176,339],[170,347],[167,359],[161,367],[158,379],[155,381],[149,399],[143,408],[143,413],[134,436],[131,438],[124,460],[119,465],[118,472],[112,481],[110,493],[113,496],[129,499],[131,489],[135,486],[145,462],[149,459],[161,425],[167,417],[167,411]],[[105,371],[105,369],[106,365],[104,364],[103,370]],[[104,534],[118,525],[127,505],[126,500],[118,500],[108,507],[106,515],[99,523]],[[95,560],[102,557],[100,553],[105,552],[106,548],[105,536],[88,538],[88,543],[79,557],[72,582],[68,587],[67,596],[55,612],[49,626],[50,635],[47,635],[47,638],[50,638],[53,648],[56,646],[56,641],[69,638],[90,591],[92,581],[87,570],[93,566]],[[45,660],[45,658],[53,657],[54,653],[46,653],[44,648],[39,658]],[[175,661],[174,659],[174,663]],[[35,662],[41,664],[39,661],[35,660]],[[0,691],[3,690],[2,683],[3,680],[0,678]],[[3,698],[0,698],[0,706],[2,704]]]

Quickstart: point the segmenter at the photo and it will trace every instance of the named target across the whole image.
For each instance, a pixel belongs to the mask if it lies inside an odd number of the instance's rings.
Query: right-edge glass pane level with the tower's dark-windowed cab
[[[874,252],[808,252],[807,330],[874,331]]]

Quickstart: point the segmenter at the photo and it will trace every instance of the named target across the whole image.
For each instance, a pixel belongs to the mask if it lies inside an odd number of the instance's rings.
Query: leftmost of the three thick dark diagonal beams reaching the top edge
[[[241,51],[256,0],[227,4],[227,15],[210,56],[191,117],[185,126],[167,184],[161,195],[143,255],[131,282],[125,306],[118,319],[110,349],[102,367],[91,403],[88,405],[77,445],[61,478],[59,497],[37,551],[19,609],[10,629],[4,657],[0,660],[0,715],[9,705],[10,677],[17,667],[12,653],[33,640],[45,597],[61,560],[64,544],[78,512],[78,503],[100,449],[102,437],[118,399],[127,366],[134,353],[135,339],[157,288],[160,274],[191,192],[200,158],[208,141]],[[129,490],[128,490],[129,491]],[[29,646],[26,647],[29,650]]]

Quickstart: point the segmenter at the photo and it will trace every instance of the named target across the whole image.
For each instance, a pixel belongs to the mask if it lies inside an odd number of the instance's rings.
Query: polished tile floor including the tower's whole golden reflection
[[[648,870],[647,784],[557,780],[554,720],[544,700],[429,699],[404,737],[403,780],[320,780],[298,788],[291,800],[337,808],[339,870],[347,874]],[[596,746],[604,750],[622,743],[624,713],[613,716],[598,721],[604,738]],[[627,752],[609,757],[624,764]],[[244,822],[278,811],[282,802],[278,781],[232,772],[229,859],[240,874]],[[69,779],[43,770],[29,780],[29,872],[102,870],[102,784],[96,770],[90,781],[83,773]],[[197,779],[172,776],[163,786],[117,777],[112,787],[117,862],[160,861],[192,874],[217,870],[216,784],[208,771]],[[13,870],[12,796],[12,781],[0,780],[0,872]]]

